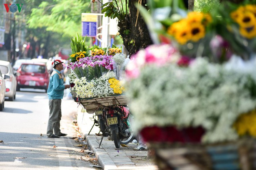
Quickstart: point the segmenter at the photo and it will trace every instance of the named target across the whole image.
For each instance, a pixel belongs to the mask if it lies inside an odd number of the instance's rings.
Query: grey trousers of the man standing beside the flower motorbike
[[[60,120],[61,120],[61,99],[52,99],[49,100],[49,120],[47,126],[47,136],[52,136],[53,132],[55,135],[59,136],[60,132]]]

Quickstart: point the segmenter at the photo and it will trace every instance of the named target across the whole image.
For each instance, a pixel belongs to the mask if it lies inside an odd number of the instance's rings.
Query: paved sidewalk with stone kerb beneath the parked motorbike
[[[99,142],[101,136],[95,134],[99,133],[99,128],[94,126],[90,135],[88,135],[90,129],[93,126],[92,114],[83,113],[82,106],[78,107],[77,123],[81,132],[84,134],[87,144],[90,149],[95,153],[96,158],[100,166],[104,170],[114,170],[114,169],[147,169],[147,170],[157,170],[157,166],[154,165],[152,160],[146,159],[147,151],[134,151],[133,148],[137,144],[129,143],[128,147],[120,147],[116,149],[114,142],[108,140],[107,137],[103,138],[102,144],[99,148]]]

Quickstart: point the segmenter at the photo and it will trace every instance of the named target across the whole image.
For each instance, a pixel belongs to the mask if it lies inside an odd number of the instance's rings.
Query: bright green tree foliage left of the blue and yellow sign
[[[81,31],[81,13],[90,12],[90,0],[48,0],[32,8],[29,28],[45,27],[47,31],[73,36]]]

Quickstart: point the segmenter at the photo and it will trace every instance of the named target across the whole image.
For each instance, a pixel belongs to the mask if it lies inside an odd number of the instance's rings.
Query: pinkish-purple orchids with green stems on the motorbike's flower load
[[[113,70],[113,59],[109,55],[95,55],[80,58],[77,62],[71,62],[67,68],[71,69],[76,77],[86,77],[87,81],[99,78],[104,72]]]

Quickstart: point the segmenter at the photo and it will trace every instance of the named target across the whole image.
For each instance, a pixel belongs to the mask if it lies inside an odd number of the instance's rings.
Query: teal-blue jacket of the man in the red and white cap
[[[55,70],[52,72],[50,82],[47,90],[49,100],[62,99],[64,95],[65,86],[61,77],[60,71]]]

